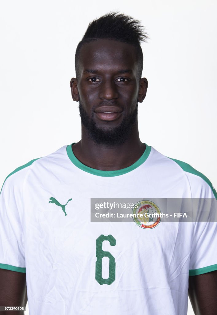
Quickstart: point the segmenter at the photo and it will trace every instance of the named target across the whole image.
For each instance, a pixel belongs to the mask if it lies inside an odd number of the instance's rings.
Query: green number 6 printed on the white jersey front
[[[115,260],[111,253],[103,250],[103,242],[108,241],[111,246],[116,245],[116,239],[111,235],[100,235],[96,241],[96,277],[95,279],[99,284],[112,284],[115,280]],[[104,279],[102,277],[102,259],[103,257],[109,258],[109,277]]]

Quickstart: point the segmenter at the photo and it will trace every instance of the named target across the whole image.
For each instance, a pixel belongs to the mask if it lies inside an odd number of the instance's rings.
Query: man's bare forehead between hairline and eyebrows
[[[80,52],[80,70],[100,69],[104,71],[132,69],[136,71],[136,48],[128,43],[111,39],[98,39],[83,44]]]

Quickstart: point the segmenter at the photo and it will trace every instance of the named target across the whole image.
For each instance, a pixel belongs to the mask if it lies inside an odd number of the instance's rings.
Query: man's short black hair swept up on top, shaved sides
[[[83,44],[103,38],[117,40],[136,47],[138,77],[140,79],[143,68],[143,54],[140,43],[146,42],[147,38],[149,38],[143,29],[144,27],[141,26],[140,21],[134,20],[131,16],[119,14],[118,12],[109,12],[100,18],[93,20],[89,23],[75,52],[76,77],[79,77],[79,58]]]

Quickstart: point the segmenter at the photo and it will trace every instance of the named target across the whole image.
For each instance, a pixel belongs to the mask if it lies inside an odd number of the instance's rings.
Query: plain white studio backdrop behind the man
[[[142,44],[149,86],[139,103],[141,140],[217,186],[217,4],[211,0],[2,2],[1,183],[16,167],[80,140],[69,85],[76,45],[92,19],[116,10],[141,20],[150,37]]]

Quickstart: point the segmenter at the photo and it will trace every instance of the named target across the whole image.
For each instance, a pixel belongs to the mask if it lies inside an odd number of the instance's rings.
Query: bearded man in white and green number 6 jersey
[[[90,220],[91,198],[217,197],[204,175],[139,139],[146,38],[138,21],[110,13],[78,44],[70,87],[81,140],[3,184],[1,305],[25,305],[27,283],[31,315],[184,315],[189,280],[195,313],[216,314],[216,223]]]

